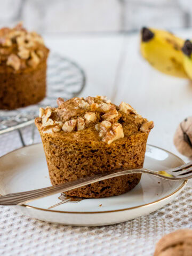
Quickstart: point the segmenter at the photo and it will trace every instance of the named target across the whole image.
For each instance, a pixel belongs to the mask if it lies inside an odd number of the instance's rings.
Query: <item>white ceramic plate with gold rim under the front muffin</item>
[[[168,151],[147,146],[145,167],[166,170],[181,164],[183,161]],[[42,144],[21,148],[1,157],[0,175],[2,195],[50,186]],[[156,211],[170,203],[186,183],[143,174],[139,185],[121,196],[63,203],[61,194],[57,194],[12,207],[43,221],[72,226],[110,225]]]

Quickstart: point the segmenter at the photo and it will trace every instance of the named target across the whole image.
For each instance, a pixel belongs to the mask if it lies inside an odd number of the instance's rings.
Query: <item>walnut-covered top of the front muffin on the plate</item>
[[[39,109],[43,133],[78,133],[86,139],[92,136],[108,145],[137,132],[149,132],[153,121],[141,117],[129,104],[114,105],[106,97],[73,98],[57,100],[58,108]],[[96,134],[96,136],[94,136]]]

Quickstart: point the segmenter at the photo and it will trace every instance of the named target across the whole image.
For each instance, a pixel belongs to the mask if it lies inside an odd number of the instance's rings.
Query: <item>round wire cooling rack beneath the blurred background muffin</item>
[[[85,86],[85,73],[77,63],[59,54],[50,54],[47,65],[47,95],[36,105],[16,110],[0,110],[0,134],[18,130],[34,123],[39,107],[56,106],[58,97],[76,97]],[[22,135],[19,130],[20,137]]]

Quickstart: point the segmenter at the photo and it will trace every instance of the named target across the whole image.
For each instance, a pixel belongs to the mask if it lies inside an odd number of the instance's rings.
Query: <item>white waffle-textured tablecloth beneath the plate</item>
[[[23,129],[26,143],[31,128]],[[0,136],[0,155],[21,147],[18,132]],[[35,142],[40,141],[36,133]],[[178,228],[192,228],[191,182],[171,204],[147,216],[103,227],[54,225],[0,206],[0,255],[153,255],[155,243]]]

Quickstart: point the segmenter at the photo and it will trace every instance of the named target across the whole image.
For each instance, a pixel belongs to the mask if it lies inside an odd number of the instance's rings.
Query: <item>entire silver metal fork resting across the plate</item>
[[[0,205],[18,205],[23,204],[26,202],[33,201],[38,198],[42,198],[45,196],[50,196],[53,194],[57,194],[60,192],[65,192],[71,189],[83,187],[85,185],[89,185],[91,183],[95,183],[101,180],[107,180],[110,178],[126,175],[126,174],[132,174],[132,173],[146,173],[150,175],[154,175],[156,177],[165,179],[165,180],[187,180],[192,178],[192,162],[183,164],[181,166],[164,170],[169,176],[165,176],[161,174],[162,171],[154,171],[147,168],[142,169],[133,169],[133,170],[125,170],[125,171],[119,171],[115,173],[110,174],[98,174],[94,177],[85,177],[82,179],[78,179],[75,181],[66,182],[64,184],[51,186],[47,188],[41,188],[41,189],[35,189],[20,193],[13,193],[13,194],[7,194],[0,197]]]

